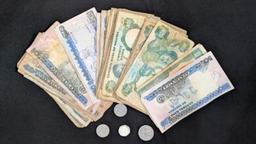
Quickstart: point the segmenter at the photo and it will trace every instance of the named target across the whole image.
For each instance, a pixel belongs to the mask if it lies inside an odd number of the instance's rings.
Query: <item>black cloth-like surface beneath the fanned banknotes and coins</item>
[[[79,129],[41,88],[17,73],[16,63],[39,31],[95,7],[148,12],[188,31],[190,39],[211,50],[235,90],[184,118],[165,134],[146,115],[128,108]],[[256,1],[0,1],[0,143],[144,143],[139,127],[154,128],[151,143],[253,143],[256,141]],[[101,139],[99,124],[110,126]],[[131,127],[119,136],[121,124]]]

